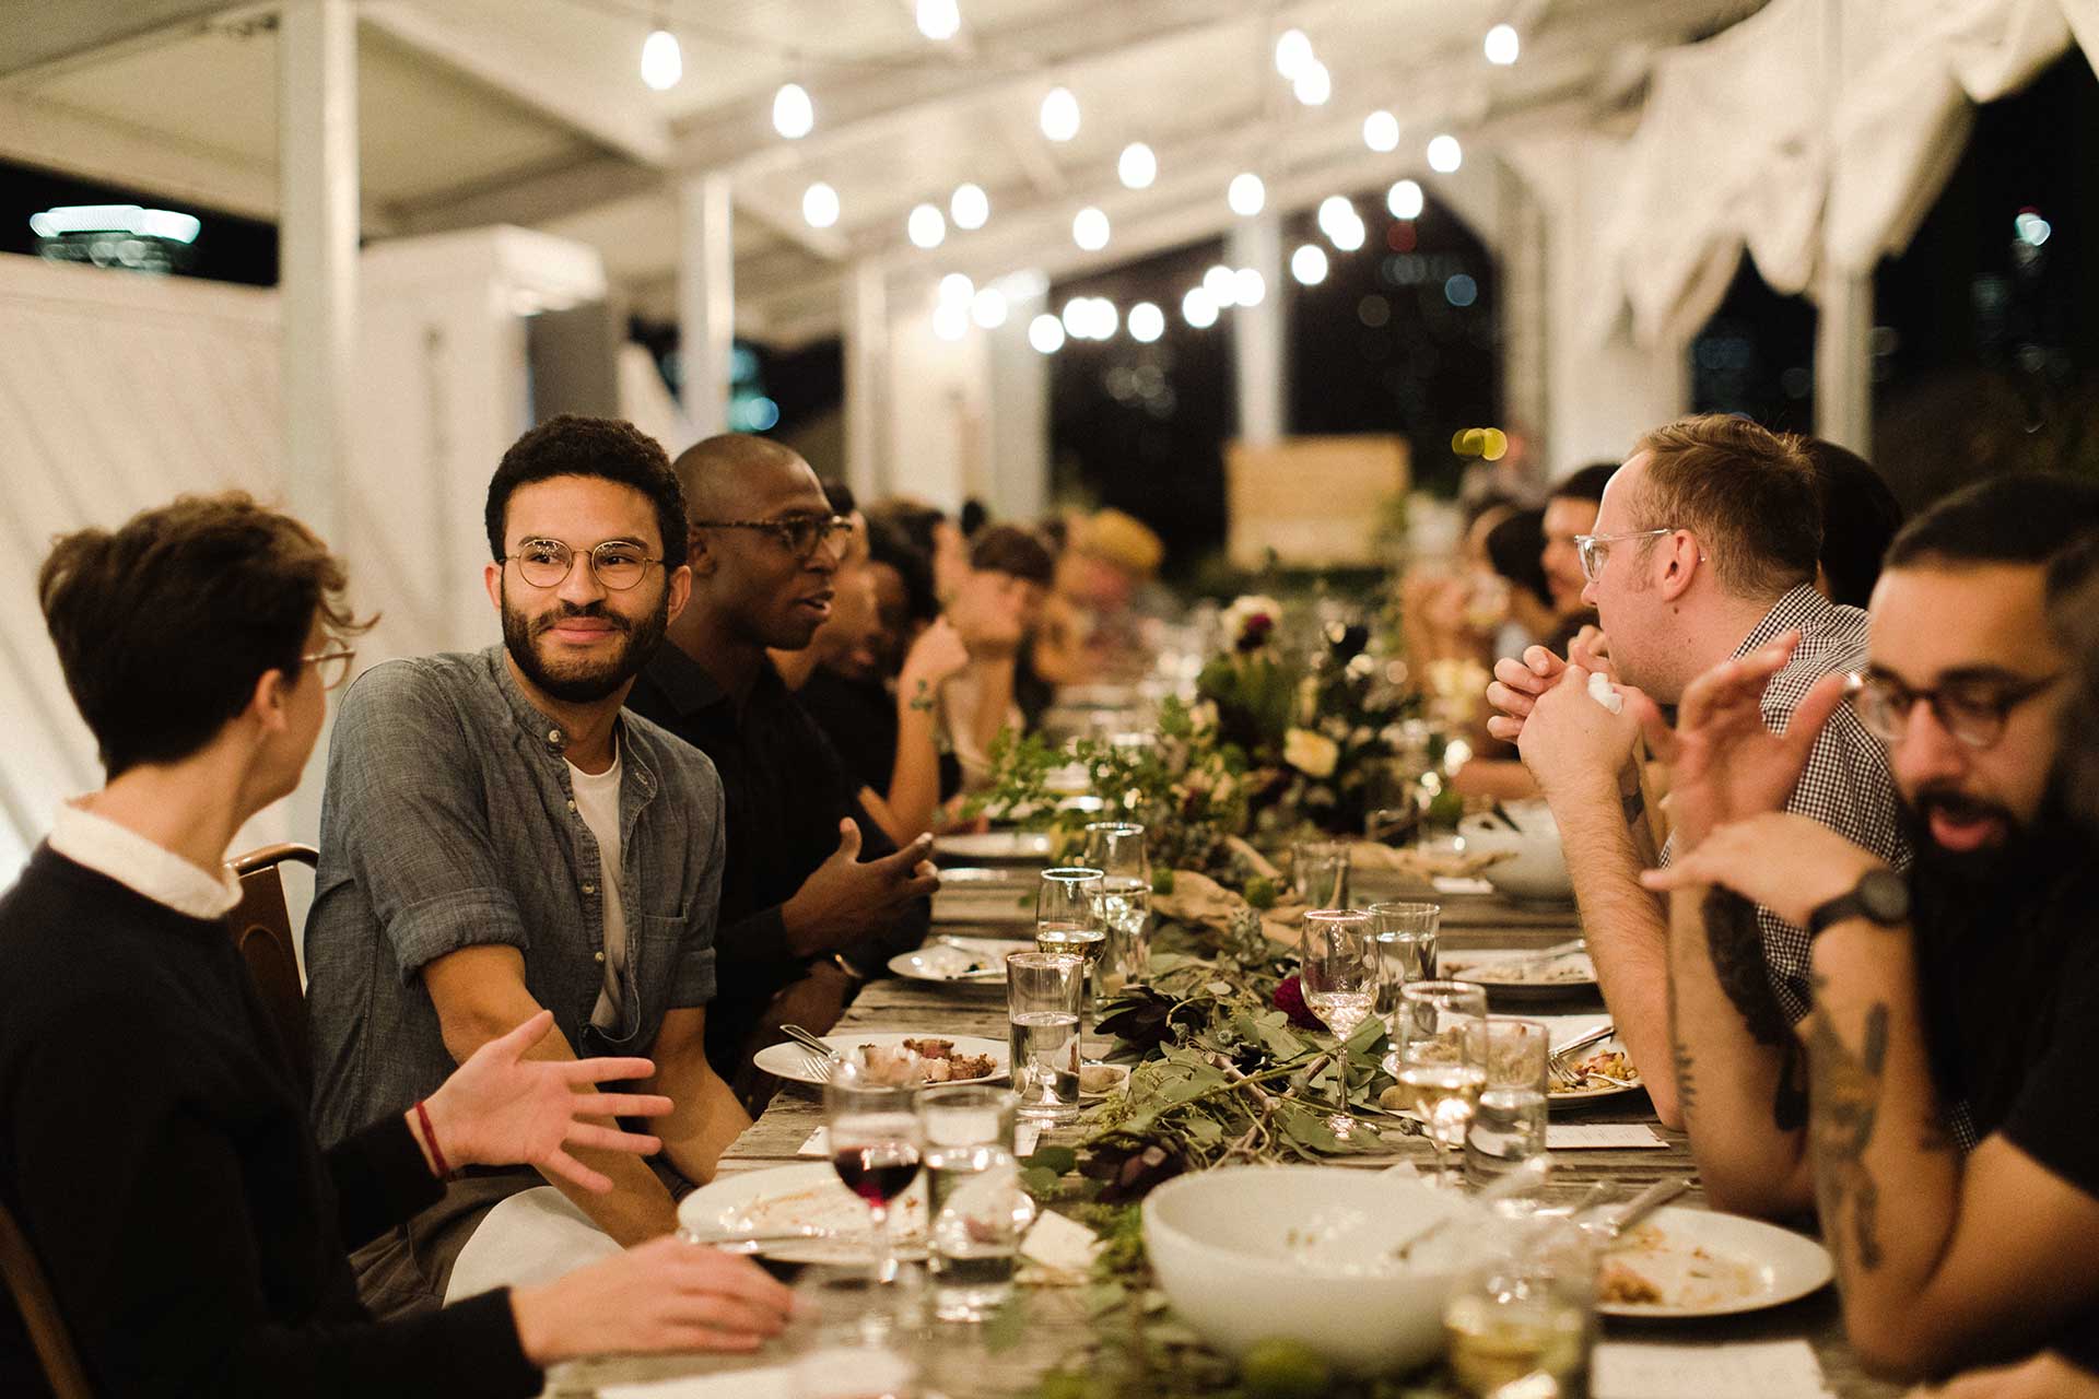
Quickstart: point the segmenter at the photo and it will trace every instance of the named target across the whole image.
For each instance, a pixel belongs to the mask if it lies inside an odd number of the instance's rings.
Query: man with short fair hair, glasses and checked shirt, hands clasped
[[[1660,900],[1639,887],[1654,862],[1633,761],[1641,713],[1675,707],[1702,671],[1767,646],[1786,661],[1744,717],[1761,742],[1786,745],[1797,713],[1814,724],[1826,705],[1803,703],[1820,675],[1856,669],[1866,654],[1866,615],[1816,591],[1822,505],[1814,466],[1797,438],[1740,417],[1688,417],[1646,434],[1612,474],[1595,531],[1576,539],[1597,608],[1614,696],[1591,690],[1591,673],[1545,648],[1501,661],[1488,701],[1503,713],[1490,732],[1518,745],[1560,822],[1574,896],[1618,1034],[1639,1066],[1665,1124],[1698,1128],[1679,1101],[1669,1038],[1669,935]],[[1734,772],[1679,761],[1669,805],[1669,862],[1696,845],[1740,803],[1803,812],[1870,847],[1897,868],[1908,845],[1895,826],[1895,795],[1881,745],[1849,713],[1811,747],[1805,768],[1776,791],[1742,789]],[[1790,751],[1790,749],[1788,749]],[[1772,908],[1736,904],[1715,954],[1736,1019],[1755,1042],[1778,1047],[1807,1013],[1807,931]],[[1795,1082],[1767,1084],[1774,1131],[1797,1126]],[[1700,1162],[1704,1158],[1700,1156]],[[1725,1187],[1721,1187],[1725,1189]],[[1725,1198],[1725,1196],[1721,1196]]]

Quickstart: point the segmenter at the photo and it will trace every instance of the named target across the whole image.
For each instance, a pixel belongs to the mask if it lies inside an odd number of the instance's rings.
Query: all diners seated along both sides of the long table
[[[1515,757],[1467,787],[1551,805],[1658,1116],[1719,1208],[1820,1214],[1872,1368],[2049,1351],[2034,1393],[2091,1393],[2099,487],[1897,533],[1851,453],[1694,417],[1553,491],[1476,516],[1411,640],[1494,661]],[[1142,669],[1161,556],[1117,512],[963,535],[766,438],[672,461],[588,417],[518,438],[485,526],[502,642],[340,701],[311,1101],[220,919],[369,625],[344,571],[241,495],[44,560],[107,782],[0,898],[0,1200],[65,1240],[105,1393],[537,1393],[777,1334],[785,1288],[667,1237],[676,1200],[777,1089],[754,1053],[926,935],[993,738]],[[38,1389],[6,1313],[0,1391]]]

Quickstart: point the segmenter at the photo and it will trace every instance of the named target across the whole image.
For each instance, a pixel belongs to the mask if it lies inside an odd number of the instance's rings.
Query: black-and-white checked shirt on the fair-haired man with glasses
[[[1774,734],[1786,732],[1793,709],[1809,686],[1830,671],[1866,665],[1866,612],[1839,606],[1801,583],[1765,612],[1757,629],[1734,648],[1736,659],[1767,646],[1782,631],[1799,631],[1801,644],[1786,669],[1763,690],[1763,722]],[[1786,799],[1788,812],[1814,816],[1824,826],[1887,860],[1910,868],[1910,843],[1895,822],[1895,780],[1887,772],[1887,747],[1866,732],[1849,705],[1839,705],[1807,755],[1807,768]],[[1662,847],[1662,864],[1675,854],[1675,837]],[[1763,933],[1763,971],[1772,996],[1788,1021],[1807,1015],[1807,929],[1786,923],[1769,908],[1757,908]]]

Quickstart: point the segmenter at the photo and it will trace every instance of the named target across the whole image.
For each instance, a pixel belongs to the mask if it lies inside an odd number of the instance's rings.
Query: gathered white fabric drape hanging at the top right
[[[1973,105],[2070,44],[2099,52],[2099,0],[1772,0],[1656,61],[1612,214],[1597,229],[1602,342],[1681,342],[1746,250],[1780,292],[1870,271],[1916,233]]]

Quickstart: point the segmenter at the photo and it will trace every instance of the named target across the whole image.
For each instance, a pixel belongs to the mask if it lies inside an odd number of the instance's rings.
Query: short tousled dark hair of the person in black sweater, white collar
[[[36,598],[115,778],[206,747],[267,671],[319,684],[302,663],[315,619],[340,636],[372,625],[351,617],[346,581],[311,529],[229,491],[63,535]]]

